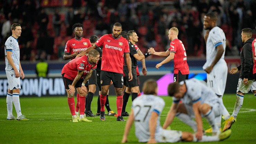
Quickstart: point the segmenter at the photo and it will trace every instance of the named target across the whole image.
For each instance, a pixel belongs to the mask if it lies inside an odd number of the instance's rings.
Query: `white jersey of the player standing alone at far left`
[[[13,60],[14,65],[16,68],[20,69],[19,63],[20,63],[20,48],[17,39],[10,36],[5,44],[4,44],[4,55],[7,55],[7,51],[11,51],[11,58]],[[10,65],[8,59],[5,57],[5,70],[10,71],[12,69],[12,66]]]

